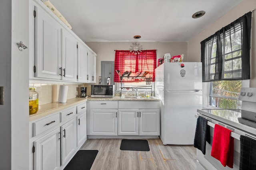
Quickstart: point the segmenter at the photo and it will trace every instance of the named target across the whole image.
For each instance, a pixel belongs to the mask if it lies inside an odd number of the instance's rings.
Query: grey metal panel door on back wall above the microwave
[[[110,85],[114,85],[114,61],[101,61],[102,85],[107,84],[107,77],[110,76]]]

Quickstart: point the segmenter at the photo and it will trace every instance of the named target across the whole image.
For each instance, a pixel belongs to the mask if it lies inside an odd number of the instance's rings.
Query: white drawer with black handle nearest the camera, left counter
[[[36,136],[60,123],[60,115],[56,113],[33,123],[33,136]]]

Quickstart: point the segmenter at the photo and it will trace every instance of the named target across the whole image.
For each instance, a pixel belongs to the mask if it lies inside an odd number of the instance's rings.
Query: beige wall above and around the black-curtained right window
[[[188,41],[188,61],[199,62],[201,60],[201,45],[200,42],[222,27],[228,25],[232,21],[238,19],[244,14],[254,10],[252,18],[252,33],[251,33],[251,79],[250,87],[256,87],[256,0],[243,0],[238,6],[230,10],[227,14],[212,23],[201,33],[194,36]],[[207,15],[207,12],[206,14]]]

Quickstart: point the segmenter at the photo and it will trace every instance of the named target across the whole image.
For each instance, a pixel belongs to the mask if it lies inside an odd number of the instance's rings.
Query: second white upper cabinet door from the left
[[[68,31],[62,31],[62,80],[76,81],[77,41]]]

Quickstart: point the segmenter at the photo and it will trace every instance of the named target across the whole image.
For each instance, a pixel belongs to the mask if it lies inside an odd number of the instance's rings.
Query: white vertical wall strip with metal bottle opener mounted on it
[[[29,50],[19,51],[16,45],[20,41],[25,45],[29,44],[28,2],[29,0],[12,0],[11,94],[9,94],[11,96],[12,170],[29,169]]]

